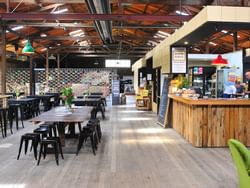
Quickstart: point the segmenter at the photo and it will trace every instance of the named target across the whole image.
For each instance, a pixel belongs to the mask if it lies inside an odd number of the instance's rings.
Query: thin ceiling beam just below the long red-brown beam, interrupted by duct
[[[58,28],[95,28],[94,25],[86,25],[86,24],[74,24],[74,23],[43,23],[43,22],[37,22],[37,23],[32,23],[32,22],[18,22],[18,23],[7,23],[8,26],[31,26],[31,27],[58,27]],[[178,29],[179,26],[176,25],[113,25],[112,28],[114,29]]]

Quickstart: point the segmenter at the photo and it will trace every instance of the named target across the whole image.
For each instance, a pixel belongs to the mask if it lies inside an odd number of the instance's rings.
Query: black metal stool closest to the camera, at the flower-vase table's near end
[[[61,146],[60,138],[59,137],[47,137],[47,138],[42,139],[42,141],[41,141],[41,147],[40,147],[40,152],[39,152],[39,158],[38,158],[38,161],[37,161],[37,166],[40,163],[42,152],[43,152],[43,158],[45,159],[45,157],[47,155],[48,145],[52,145],[52,148],[54,149],[56,164],[57,165],[59,165],[58,149],[59,149],[59,151],[61,153],[62,159],[64,159],[63,153],[62,153],[62,146]]]

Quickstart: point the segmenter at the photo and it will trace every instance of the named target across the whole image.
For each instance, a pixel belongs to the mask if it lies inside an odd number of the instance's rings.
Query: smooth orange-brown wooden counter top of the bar
[[[208,99],[192,99],[184,98],[176,95],[169,94],[169,98],[183,102],[188,105],[241,105],[241,106],[250,106],[250,99],[244,98],[208,98]]]

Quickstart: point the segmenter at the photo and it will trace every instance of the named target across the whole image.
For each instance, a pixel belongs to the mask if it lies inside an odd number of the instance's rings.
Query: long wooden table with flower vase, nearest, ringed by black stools
[[[81,123],[87,121],[91,117],[90,106],[74,106],[71,109],[65,106],[55,107],[49,111],[43,112],[35,118],[30,119],[34,124],[56,123],[58,134],[62,146],[65,146],[65,138],[76,137],[75,125],[81,126]],[[69,125],[70,134],[65,134],[65,127]],[[80,129],[80,127],[79,127]]]

